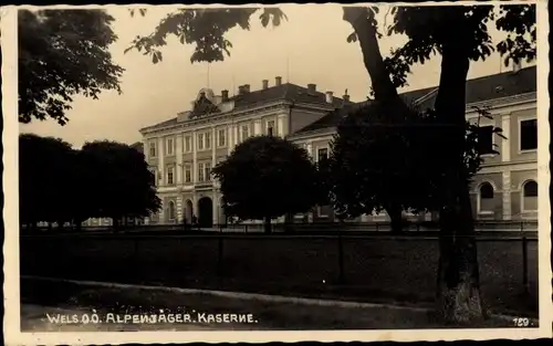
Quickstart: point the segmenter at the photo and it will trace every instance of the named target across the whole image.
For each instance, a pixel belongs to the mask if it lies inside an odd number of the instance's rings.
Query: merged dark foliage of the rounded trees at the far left
[[[52,137],[20,136],[22,223],[145,217],[160,208],[144,155],[112,141],[82,150]]]

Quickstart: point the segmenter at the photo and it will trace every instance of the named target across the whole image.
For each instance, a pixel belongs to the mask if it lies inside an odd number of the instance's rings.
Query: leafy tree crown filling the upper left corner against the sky
[[[19,122],[69,120],[75,95],[121,93],[123,69],[112,61],[114,18],[103,10],[19,10]]]

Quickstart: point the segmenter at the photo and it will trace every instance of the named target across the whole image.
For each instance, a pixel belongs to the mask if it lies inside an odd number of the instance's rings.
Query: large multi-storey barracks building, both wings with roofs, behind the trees
[[[409,103],[431,106],[436,87],[401,94]],[[190,221],[209,226],[225,222],[221,195],[210,169],[225,160],[232,148],[250,136],[272,133],[303,146],[314,160],[330,155],[330,141],[340,119],[352,107],[348,95],[335,97],[322,93],[315,84],[305,87],[261,81],[261,88],[242,85],[238,94],[228,91],[216,95],[204,88],[191,102],[190,111],[160,124],[140,129],[144,154],[156,175],[161,211],[150,223]],[[487,108],[490,117],[476,111]],[[484,164],[471,187],[474,216],[478,219],[513,220],[538,217],[538,127],[536,69],[513,70],[467,82],[467,117],[483,127],[481,147],[500,154],[484,155]],[[501,127],[507,139],[492,132]],[[420,216],[429,219],[430,216]],[[359,221],[385,220],[371,214]],[[333,221],[330,207],[315,207],[303,221]]]

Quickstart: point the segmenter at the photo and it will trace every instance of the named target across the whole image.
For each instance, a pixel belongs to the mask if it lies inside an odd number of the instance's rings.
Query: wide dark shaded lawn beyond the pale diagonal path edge
[[[23,275],[422,306],[434,300],[438,261],[437,240],[344,237],[338,282],[335,237],[33,237],[21,247]],[[487,307],[538,316],[536,241],[528,245],[529,293],[520,241],[480,241],[478,251]]]

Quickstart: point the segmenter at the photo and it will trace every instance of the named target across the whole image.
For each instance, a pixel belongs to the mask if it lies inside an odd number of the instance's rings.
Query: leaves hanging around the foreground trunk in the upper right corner
[[[463,43],[470,60],[486,60],[494,51],[503,56],[505,66],[510,62],[530,62],[535,59],[534,4],[504,4],[499,8],[478,4],[465,6],[462,9],[462,22],[456,28],[466,35]],[[408,36],[407,43],[393,49],[384,61],[394,85],[408,85],[407,76],[414,64],[424,64],[442,53],[442,45],[448,42],[448,32],[453,25],[450,18],[445,15],[445,7],[439,6],[392,8],[394,18],[393,23],[386,28],[387,35]],[[495,44],[489,33],[490,22],[494,22],[495,28],[507,34],[505,39]]]

